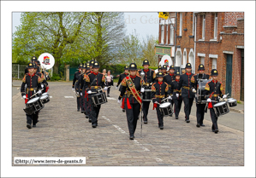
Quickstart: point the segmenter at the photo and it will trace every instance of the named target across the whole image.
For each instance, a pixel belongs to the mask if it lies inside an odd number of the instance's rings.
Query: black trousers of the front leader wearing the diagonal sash
[[[137,120],[140,115],[140,104],[136,103],[133,104],[131,103],[131,109],[128,109],[127,103],[124,103],[125,110],[126,110],[126,118],[128,122],[128,129],[129,129],[129,134],[134,135],[136,127],[137,127]]]

